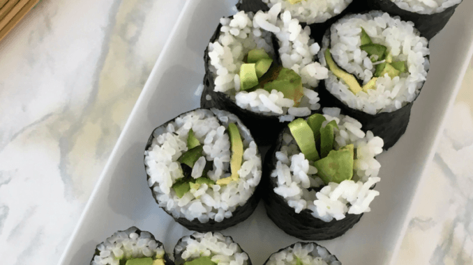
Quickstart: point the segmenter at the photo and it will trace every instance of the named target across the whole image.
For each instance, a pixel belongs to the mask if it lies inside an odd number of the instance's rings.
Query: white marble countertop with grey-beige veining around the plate
[[[0,42],[5,264],[57,264],[184,2],[42,1]],[[398,264],[473,264],[472,81],[470,67]]]

